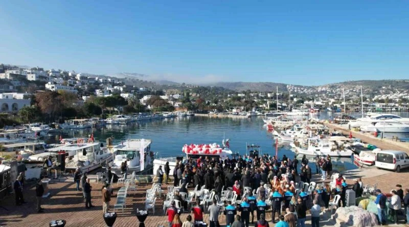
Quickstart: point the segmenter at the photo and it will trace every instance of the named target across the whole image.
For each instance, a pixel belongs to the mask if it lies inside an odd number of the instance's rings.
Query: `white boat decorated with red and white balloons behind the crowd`
[[[199,157],[206,158],[209,157],[210,159],[221,158],[222,161],[227,159],[230,155],[232,155],[232,150],[229,148],[228,143],[223,143],[221,146],[217,143],[212,144],[185,144],[182,147],[182,152],[184,155],[178,157],[169,157],[169,158],[162,158],[158,157],[153,160],[153,173],[156,173],[156,170],[159,166],[165,166],[166,162],[169,162],[170,172],[173,172],[173,169],[176,166],[176,163],[183,162],[184,159],[198,159]],[[158,154],[156,154],[158,155]]]

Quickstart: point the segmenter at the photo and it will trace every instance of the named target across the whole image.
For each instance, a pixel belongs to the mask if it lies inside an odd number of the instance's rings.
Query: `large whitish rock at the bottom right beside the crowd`
[[[367,227],[378,224],[374,213],[356,206],[340,207],[332,218],[341,226]]]

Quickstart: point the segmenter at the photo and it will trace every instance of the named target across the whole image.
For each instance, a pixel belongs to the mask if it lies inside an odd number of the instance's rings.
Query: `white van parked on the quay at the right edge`
[[[398,150],[382,150],[376,153],[375,166],[379,169],[390,169],[400,172],[409,167],[409,156]]]

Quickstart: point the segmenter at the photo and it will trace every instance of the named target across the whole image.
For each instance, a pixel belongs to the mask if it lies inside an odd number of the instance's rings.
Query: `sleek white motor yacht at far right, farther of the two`
[[[377,122],[387,122],[387,123],[403,123],[409,124],[409,118],[400,117],[395,114],[375,114],[369,113],[366,117],[357,118],[356,120],[349,121],[351,127],[362,127],[368,124],[374,124]]]

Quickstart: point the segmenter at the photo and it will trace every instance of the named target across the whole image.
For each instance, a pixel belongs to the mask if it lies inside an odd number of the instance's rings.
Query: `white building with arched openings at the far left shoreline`
[[[30,106],[31,99],[27,93],[0,93],[0,112],[17,112]]]

